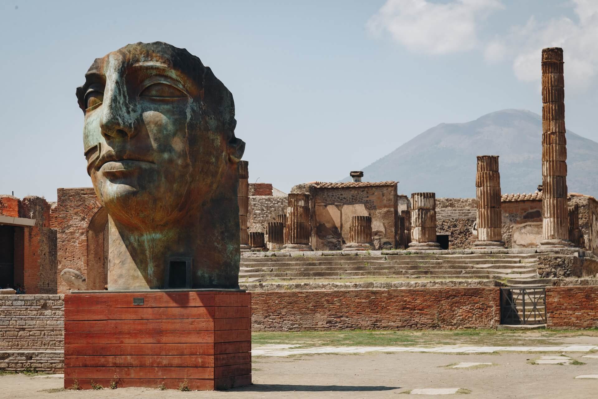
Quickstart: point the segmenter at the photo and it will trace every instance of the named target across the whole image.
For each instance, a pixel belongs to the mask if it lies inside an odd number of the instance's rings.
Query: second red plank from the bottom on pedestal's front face
[[[236,366],[223,366],[236,367]],[[231,372],[230,370],[219,373]],[[180,378],[205,379],[214,377],[214,367],[66,367],[65,378],[127,379]]]

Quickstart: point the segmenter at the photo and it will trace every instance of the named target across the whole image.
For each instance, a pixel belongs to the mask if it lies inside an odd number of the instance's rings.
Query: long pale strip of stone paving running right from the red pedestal
[[[324,348],[292,348],[297,345],[263,345],[252,349],[254,356],[289,356],[302,354],[334,354],[334,353],[365,353],[365,352],[437,352],[437,353],[493,353],[493,352],[589,352],[598,350],[593,345],[569,345],[569,346],[326,346]],[[280,348],[277,348],[280,347]],[[285,348],[282,348],[285,347]],[[570,349],[568,349],[570,348]],[[598,358],[598,355],[586,355],[584,357]],[[568,357],[556,357],[559,360],[569,359]]]

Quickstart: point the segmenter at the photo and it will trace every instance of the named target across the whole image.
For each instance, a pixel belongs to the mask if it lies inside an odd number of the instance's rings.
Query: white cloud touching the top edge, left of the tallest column
[[[367,22],[373,33],[388,32],[395,41],[417,53],[448,54],[478,44],[478,25],[498,0],[388,0]]]

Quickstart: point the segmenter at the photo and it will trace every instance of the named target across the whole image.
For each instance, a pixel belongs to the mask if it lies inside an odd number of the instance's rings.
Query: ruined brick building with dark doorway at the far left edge
[[[43,198],[0,195],[0,287],[56,293],[56,230]]]

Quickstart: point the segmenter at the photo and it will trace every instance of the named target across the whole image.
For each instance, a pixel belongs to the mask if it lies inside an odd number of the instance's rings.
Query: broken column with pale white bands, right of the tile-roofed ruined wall
[[[420,251],[441,249],[436,242],[436,194],[411,194],[411,242],[410,249]]]

